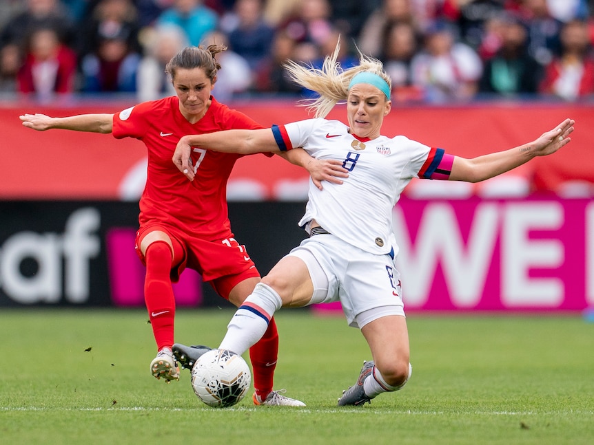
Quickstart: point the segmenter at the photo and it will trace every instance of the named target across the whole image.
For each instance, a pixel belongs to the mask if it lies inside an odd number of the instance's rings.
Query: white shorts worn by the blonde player
[[[400,272],[389,254],[365,252],[334,235],[304,239],[287,256],[298,257],[309,270],[314,294],[308,304],[340,301],[352,327],[382,316],[404,316]]]

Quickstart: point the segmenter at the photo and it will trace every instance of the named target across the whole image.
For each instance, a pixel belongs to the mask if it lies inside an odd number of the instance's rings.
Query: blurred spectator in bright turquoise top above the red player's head
[[[185,31],[190,45],[198,46],[205,34],[216,29],[218,15],[204,6],[202,0],[175,0],[158,17],[156,24],[179,26]]]

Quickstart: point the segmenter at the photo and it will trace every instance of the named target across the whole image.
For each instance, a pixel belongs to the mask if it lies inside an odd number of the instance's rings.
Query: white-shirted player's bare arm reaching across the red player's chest
[[[179,171],[190,181],[194,180],[194,168],[190,158],[192,147],[244,155],[280,151],[272,129],[224,130],[185,135],[177,143],[172,160]]]

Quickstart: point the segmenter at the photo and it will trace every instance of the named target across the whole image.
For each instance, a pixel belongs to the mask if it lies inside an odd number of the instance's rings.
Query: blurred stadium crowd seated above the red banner
[[[223,43],[215,94],[303,96],[287,58],[320,66],[342,43],[379,58],[393,100],[594,96],[593,0],[2,0],[0,94],[173,94],[165,64]]]

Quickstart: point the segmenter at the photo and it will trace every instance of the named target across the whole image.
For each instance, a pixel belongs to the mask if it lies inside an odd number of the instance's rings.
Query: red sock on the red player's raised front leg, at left
[[[172,347],[174,341],[175,297],[171,285],[171,248],[154,241],[145,252],[145,303],[157,350]]]

